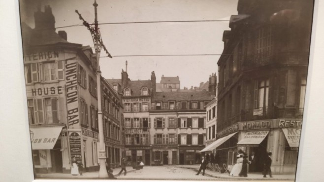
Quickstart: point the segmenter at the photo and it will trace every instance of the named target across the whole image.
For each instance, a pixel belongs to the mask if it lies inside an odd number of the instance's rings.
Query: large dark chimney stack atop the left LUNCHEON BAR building
[[[52,14],[52,8],[45,6],[44,12],[38,10],[34,13],[35,29],[54,30],[55,31],[55,17]]]

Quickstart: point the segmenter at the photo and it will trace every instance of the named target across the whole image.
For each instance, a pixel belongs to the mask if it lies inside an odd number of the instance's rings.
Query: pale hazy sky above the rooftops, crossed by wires
[[[52,7],[56,27],[82,24],[75,9],[88,23],[94,22],[94,0],[20,0],[22,21],[34,27],[37,2],[41,10]],[[98,22],[148,22],[229,20],[237,14],[237,0],[97,0]],[[26,7],[26,8],[24,8]],[[103,43],[112,56],[142,54],[221,54],[223,32],[229,22],[151,23],[99,25]],[[93,47],[85,26],[57,28],[65,30],[67,41]],[[101,52],[101,56],[106,56]],[[157,82],[179,76],[181,88],[198,86],[217,73],[220,56],[139,56],[100,58],[102,76],[121,78],[128,60],[131,80],[147,80],[155,71]]]

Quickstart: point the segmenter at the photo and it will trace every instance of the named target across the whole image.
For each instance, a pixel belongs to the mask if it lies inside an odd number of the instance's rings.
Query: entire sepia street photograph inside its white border
[[[19,0],[35,179],[294,181],[313,0]]]

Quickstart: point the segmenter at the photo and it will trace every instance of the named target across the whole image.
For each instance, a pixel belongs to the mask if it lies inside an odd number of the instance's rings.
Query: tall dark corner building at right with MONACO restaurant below
[[[295,173],[308,67],[312,3],[239,0],[218,61],[216,148],[232,165],[238,149],[255,153],[250,172]]]

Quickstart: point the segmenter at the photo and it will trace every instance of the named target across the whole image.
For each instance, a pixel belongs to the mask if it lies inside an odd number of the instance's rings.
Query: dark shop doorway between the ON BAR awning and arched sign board
[[[63,158],[61,149],[61,139],[58,139],[53,150],[51,150],[52,172],[55,173],[63,172]]]

